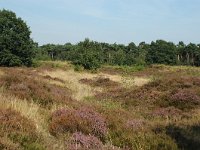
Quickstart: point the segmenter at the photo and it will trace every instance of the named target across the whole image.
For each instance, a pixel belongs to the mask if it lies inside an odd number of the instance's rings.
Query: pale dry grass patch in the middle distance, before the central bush
[[[85,97],[94,96],[96,92],[100,92],[101,88],[91,87],[86,84],[82,84],[79,81],[81,79],[94,80],[96,78],[109,78],[111,81],[120,83],[123,87],[131,86],[142,86],[147,84],[150,79],[148,78],[139,78],[139,77],[123,77],[121,75],[109,75],[103,73],[92,74],[88,72],[75,72],[73,69],[69,70],[53,70],[53,71],[43,71],[40,73],[42,76],[48,76],[58,80],[49,80],[51,84],[67,87],[72,90],[72,97],[76,100],[83,100]]]

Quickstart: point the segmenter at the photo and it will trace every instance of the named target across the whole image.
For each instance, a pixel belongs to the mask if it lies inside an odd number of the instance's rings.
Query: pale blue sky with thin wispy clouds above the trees
[[[25,20],[40,45],[200,43],[200,0],[0,0],[3,8]]]

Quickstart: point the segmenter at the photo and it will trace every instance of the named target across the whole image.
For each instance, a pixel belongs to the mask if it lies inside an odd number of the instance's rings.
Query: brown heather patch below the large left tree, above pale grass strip
[[[33,100],[41,106],[51,106],[53,103],[72,102],[69,89],[51,85],[32,71],[9,69],[0,79],[0,86],[5,87],[6,93],[20,99]]]

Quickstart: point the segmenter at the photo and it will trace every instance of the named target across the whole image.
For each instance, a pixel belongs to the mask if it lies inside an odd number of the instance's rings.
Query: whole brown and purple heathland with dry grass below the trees
[[[200,68],[0,68],[0,149],[199,149]]]

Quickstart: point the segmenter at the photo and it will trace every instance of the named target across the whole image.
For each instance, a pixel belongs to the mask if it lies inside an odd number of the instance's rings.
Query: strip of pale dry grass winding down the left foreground
[[[46,147],[51,147],[52,150],[64,150],[64,143],[53,137],[48,131],[49,125],[47,120],[51,110],[44,110],[34,102],[21,100],[11,95],[5,95],[3,94],[3,88],[0,90],[0,108],[15,110],[22,116],[32,120],[36,126],[36,131],[42,136]]]

